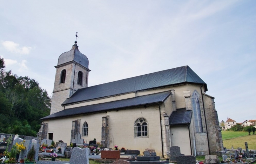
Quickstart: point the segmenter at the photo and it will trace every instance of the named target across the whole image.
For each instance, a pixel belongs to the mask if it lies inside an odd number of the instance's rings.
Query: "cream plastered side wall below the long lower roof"
[[[147,106],[134,109],[119,111],[109,111],[94,113],[88,115],[79,115],[76,117],[67,117],[58,120],[44,120],[48,123],[48,132],[53,132],[53,140],[62,140],[69,144],[72,121],[81,119],[80,133],[82,125],[86,121],[88,124],[88,137],[82,137],[85,142],[89,143],[94,138],[97,142],[101,141],[102,117],[109,115],[109,137],[110,147],[140,150],[141,154],[146,148],[155,149],[157,155],[162,156],[161,146],[161,127],[159,118],[159,106]],[[134,137],[134,122],[136,119],[143,117],[148,121],[148,137]]]

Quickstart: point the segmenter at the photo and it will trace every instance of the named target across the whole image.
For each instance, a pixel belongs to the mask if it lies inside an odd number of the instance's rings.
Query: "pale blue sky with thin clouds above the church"
[[[0,0],[0,56],[52,95],[60,54],[78,46],[88,86],[188,65],[219,121],[256,119],[255,0]]]

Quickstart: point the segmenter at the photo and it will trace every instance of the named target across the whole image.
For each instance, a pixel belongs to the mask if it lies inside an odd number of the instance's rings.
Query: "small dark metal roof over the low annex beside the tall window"
[[[177,109],[169,117],[170,125],[182,125],[190,124],[192,118],[192,110],[186,110],[186,108]]]

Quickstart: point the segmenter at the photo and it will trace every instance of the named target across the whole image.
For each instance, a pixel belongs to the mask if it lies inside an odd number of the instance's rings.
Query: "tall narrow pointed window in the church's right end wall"
[[[192,94],[192,107],[194,113],[196,132],[203,132],[199,94],[196,90]]]

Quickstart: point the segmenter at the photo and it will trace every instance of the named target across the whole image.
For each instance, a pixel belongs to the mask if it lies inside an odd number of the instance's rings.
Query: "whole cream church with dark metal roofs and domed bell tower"
[[[154,149],[162,157],[171,146],[194,156],[223,150],[214,97],[189,66],[88,87],[89,60],[75,41],[55,68],[40,139],[69,144],[81,134],[85,143],[95,138],[104,147]]]

